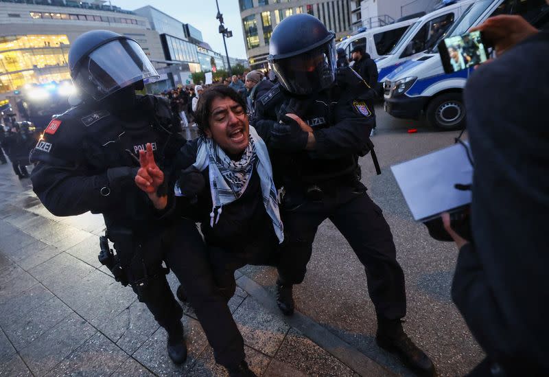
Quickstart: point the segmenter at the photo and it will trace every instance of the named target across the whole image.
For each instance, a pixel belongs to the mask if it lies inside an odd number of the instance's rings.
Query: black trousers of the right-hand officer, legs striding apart
[[[302,197],[303,200],[295,198]],[[318,225],[329,218],[347,239],[364,265],[369,295],[378,317],[406,315],[404,273],[397,262],[395,243],[382,210],[366,194],[362,183],[324,190],[318,202],[288,190],[283,200],[285,242],[279,276],[287,284],[303,282]]]

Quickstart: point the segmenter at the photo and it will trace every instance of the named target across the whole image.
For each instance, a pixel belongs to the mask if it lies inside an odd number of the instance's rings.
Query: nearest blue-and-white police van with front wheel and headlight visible
[[[549,21],[545,0],[477,0],[448,30],[446,38],[465,34],[490,16],[518,14],[535,27]],[[385,111],[398,118],[421,119],[442,130],[465,125],[462,92],[474,67],[445,73],[436,47],[408,60],[384,80]]]

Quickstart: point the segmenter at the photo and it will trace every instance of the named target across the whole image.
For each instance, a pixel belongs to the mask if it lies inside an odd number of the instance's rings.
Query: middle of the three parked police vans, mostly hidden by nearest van
[[[436,42],[445,36],[454,21],[467,10],[475,0],[463,0],[434,10],[411,25],[386,56],[375,60],[379,81],[395,70],[399,65],[419,56],[436,46]]]

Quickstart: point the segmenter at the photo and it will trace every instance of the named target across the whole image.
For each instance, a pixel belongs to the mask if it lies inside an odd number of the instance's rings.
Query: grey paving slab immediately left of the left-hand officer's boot
[[[159,324],[142,302],[137,299],[119,315],[97,326],[111,341],[128,354],[133,354],[152,334]]]

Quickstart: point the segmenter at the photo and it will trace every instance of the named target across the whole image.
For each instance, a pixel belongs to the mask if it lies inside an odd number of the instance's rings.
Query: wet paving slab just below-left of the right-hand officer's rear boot
[[[250,297],[233,315],[244,343],[269,356],[274,356],[290,326],[281,317],[268,312]]]

